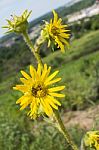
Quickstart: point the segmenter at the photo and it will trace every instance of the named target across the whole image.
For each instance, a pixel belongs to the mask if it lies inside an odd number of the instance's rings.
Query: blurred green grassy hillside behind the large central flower
[[[56,51],[43,61],[54,70],[60,70],[61,84],[66,85],[66,98],[61,100],[61,113],[68,110],[84,110],[99,104],[98,30],[71,42],[71,48],[65,54]],[[16,63],[15,60],[14,62]],[[28,72],[29,64],[22,68]],[[70,150],[62,135],[54,128],[42,121],[34,122],[26,116],[26,111],[19,111],[15,102],[21,93],[13,91],[12,87],[19,82],[20,76],[16,70],[13,73],[12,66],[10,76],[0,83],[0,149]],[[76,126],[70,128],[70,132],[75,142],[80,145],[85,130]]]

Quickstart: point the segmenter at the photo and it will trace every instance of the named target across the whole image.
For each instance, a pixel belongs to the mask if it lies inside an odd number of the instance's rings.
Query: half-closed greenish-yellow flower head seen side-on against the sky
[[[28,27],[28,17],[32,11],[25,10],[21,16],[12,15],[12,20],[7,20],[8,25],[3,28],[8,28],[8,32],[23,33]]]

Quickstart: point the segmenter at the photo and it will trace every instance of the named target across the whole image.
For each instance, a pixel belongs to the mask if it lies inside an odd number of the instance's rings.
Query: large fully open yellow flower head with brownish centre
[[[28,115],[35,119],[41,113],[46,113],[47,116],[53,114],[53,108],[58,109],[61,106],[60,102],[54,97],[64,97],[64,94],[57,93],[65,88],[65,86],[53,86],[54,83],[59,82],[61,78],[55,78],[58,71],[50,74],[51,67],[47,68],[44,64],[43,69],[38,64],[36,70],[30,65],[30,75],[21,71],[23,78],[20,78],[22,85],[16,85],[14,89],[21,91],[24,95],[17,100],[20,103],[21,110],[30,109]]]

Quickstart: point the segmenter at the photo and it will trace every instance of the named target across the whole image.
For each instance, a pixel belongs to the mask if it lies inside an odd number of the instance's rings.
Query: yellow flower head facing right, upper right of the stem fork
[[[48,47],[53,44],[65,51],[65,46],[69,47],[70,30],[67,29],[67,25],[62,24],[62,19],[58,19],[57,13],[53,10],[54,19],[50,20],[50,23],[45,22],[45,26],[41,31],[41,37],[48,41]]]

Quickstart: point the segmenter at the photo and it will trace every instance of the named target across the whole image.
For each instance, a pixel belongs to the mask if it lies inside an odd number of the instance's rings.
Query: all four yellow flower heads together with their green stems
[[[9,32],[15,32],[22,34],[25,42],[33,52],[34,56],[38,61],[38,67],[35,69],[30,65],[30,75],[26,72],[21,71],[23,77],[20,78],[22,84],[16,85],[15,90],[19,90],[23,93],[23,96],[17,100],[17,104],[20,104],[20,110],[24,108],[28,109],[28,115],[32,119],[36,119],[40,115],[46,114],[48,117],[56,115],[57,122],[60,125],[60,129],[65,136],[68,143],[71,145],[73,150],[78,150],[77,146],[71,140],[68,132],[61,121],[59,115],[55,113],[55,109],[58,110],[58,106],[61,103],[57,98],[62,98],[65,95],[61,94],[65,86],[56,86],[55,84],[61,80],[61,78],[55,76],[59,71],[51,73],[51,67],[47,64],[43,64],[39,55],[39,46],[45,41],[48,43],[48,47],[56,46],[62,52],[65,51],[65,47],[69,47],[70,30],[67,25],[62,24],[62,19],[58,18],[58,14],[53,10],[54,19],[50,22],[46,22],[41,30],[40,37],[34,46],[28,36],[28,17],[31,11],[25,10],[21,16],[12,16],[12,20],[7,20],[8,25],[4,28],[8,29]],[[99,150],[99,132],[90,131],[84,137],[85,146],[90,146]]]

